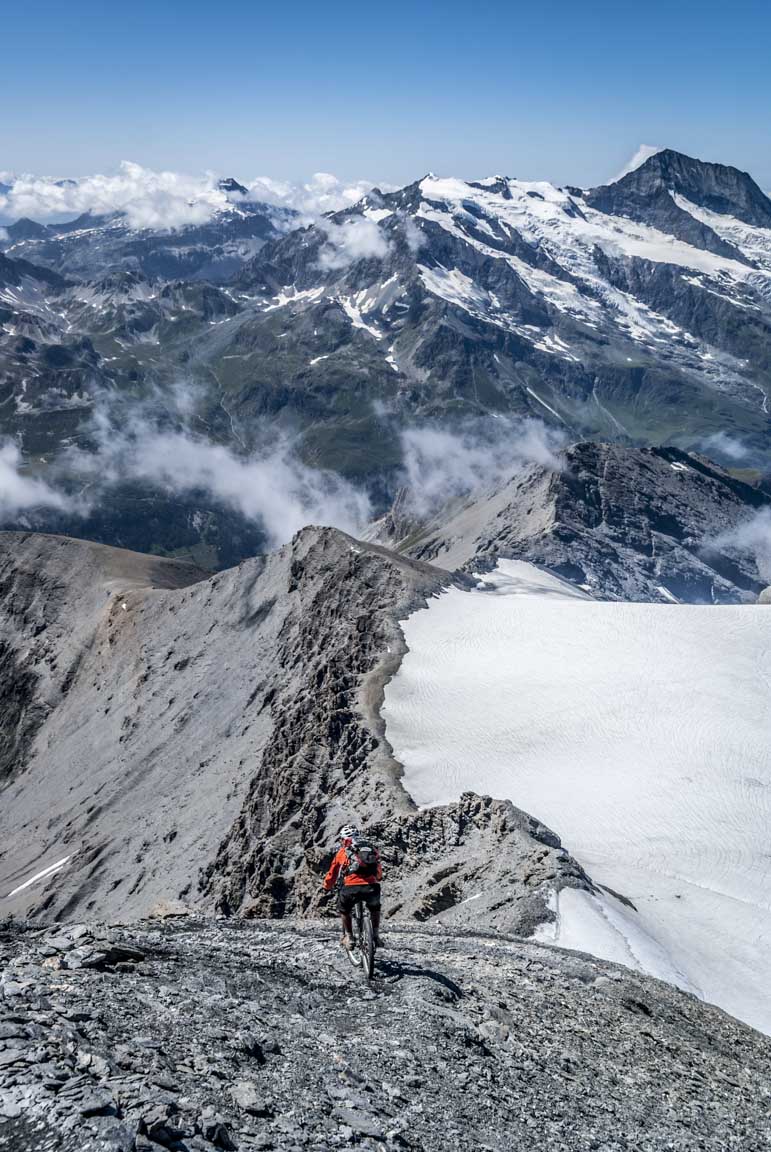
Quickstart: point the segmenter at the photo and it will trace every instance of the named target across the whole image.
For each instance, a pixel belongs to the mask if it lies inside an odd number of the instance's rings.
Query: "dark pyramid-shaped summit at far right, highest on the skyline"
[[[711,212],[733,215],[761,228],[771,227],[771,200],[747,172],[696,160],[672,149],[656,152],[607,188],[617,195],[637,192],[647,197],[672,191]]]

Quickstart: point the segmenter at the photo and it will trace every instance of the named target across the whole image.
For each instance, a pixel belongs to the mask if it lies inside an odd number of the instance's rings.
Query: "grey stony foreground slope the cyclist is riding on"
[[[0,1149],[768,1149],[771,1040],[521,939],[322,922],[0,934]]]

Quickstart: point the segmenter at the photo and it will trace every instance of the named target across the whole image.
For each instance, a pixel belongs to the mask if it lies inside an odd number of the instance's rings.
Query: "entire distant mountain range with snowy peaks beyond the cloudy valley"
[[[771,202],[747,174],[664,151],[591,190],[426,176],[294,229],[226,183],[219,215],[174,232],[10,226],[7,260],[27,272],[0,287],[0,434],[28,457],[91,450],[105,420],[150,403],[236,469],[288,437],[376,514],[403,484],[406,431],[426,425],[471,423],[500,448],[537,419],[567,442],[705,453],[754,483],[768,469]],[[51,272],[63,281],[41,289]],[[126,478],[103,472],[114,507]],[[162,550],[167,520],[177,547],[237,559],[220,543],[237,499],[225,509],[205,468],[175,483],[134,475],[146,528],[120,535],[98,508],[84,531]],[[242,524],[249,548],[260,530]]]

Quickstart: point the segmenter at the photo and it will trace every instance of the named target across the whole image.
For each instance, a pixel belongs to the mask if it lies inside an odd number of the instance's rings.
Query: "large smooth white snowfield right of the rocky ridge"
[[[541,939],[771,1032],[771,609],[599,602],[500,561],[402,628],[408,791],[507,797],[604,886],[554,894]]]

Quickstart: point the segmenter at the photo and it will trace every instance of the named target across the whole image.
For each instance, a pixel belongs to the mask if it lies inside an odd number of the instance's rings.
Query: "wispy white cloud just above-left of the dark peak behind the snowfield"
[[[448,500],[507,480],[523,464],[558,470],[562,437],[541,420],[501,417],[494,427],[477,422],[466,431],[424,425],[401,434],[407,503],[426,516]]]

